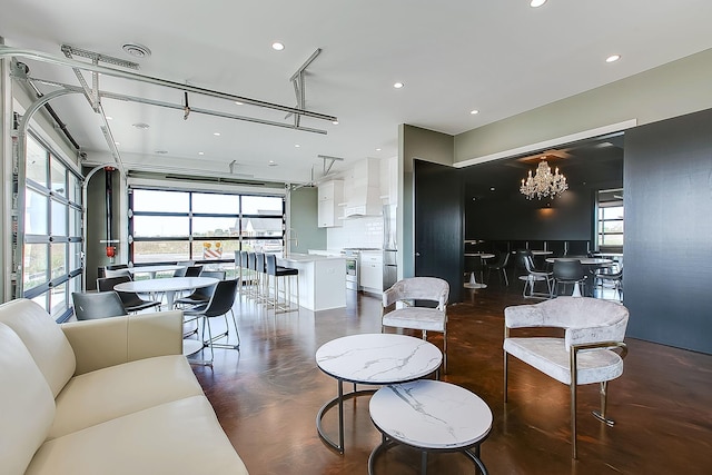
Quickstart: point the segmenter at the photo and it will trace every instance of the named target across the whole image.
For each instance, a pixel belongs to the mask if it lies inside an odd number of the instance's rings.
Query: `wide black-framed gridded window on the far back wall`
[[[130,260],[233,263],[236,250],[279,253],[281,196],[129,190]]]

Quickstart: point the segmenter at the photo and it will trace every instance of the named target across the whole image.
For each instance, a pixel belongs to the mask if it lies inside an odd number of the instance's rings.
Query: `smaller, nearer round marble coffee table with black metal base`
[[[428,452],[462,452],[487,474],[479,459],[479,444],[492,428],[487,404],[464,387],[422,379],[382,387],[370,398],[370,419],[383,441],[368,457],[373,474],[378,453],[404,444],[422,451],[421,473]]]

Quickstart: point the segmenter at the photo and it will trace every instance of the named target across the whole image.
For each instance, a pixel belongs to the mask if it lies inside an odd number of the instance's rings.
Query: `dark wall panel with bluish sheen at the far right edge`
[[[625,135],[627,335],[712,353],[712,110]]]

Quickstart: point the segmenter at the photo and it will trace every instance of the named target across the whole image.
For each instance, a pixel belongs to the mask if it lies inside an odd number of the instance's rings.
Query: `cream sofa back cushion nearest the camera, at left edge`
[[[55,398],[20,337],[0,323],[0,472],[22,474],[52,424]]]

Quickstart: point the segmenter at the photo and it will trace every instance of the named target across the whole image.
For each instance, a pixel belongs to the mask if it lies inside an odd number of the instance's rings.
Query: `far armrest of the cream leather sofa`
[[[71,321],[61,325],[77,358],[76,375],[164,355],[182,354],[182,311]]]

